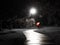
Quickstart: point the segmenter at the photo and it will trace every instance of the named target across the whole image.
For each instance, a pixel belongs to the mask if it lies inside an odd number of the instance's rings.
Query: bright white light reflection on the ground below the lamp
[[[46,36],[37,32],[34,32],[35,29],[26,30],[24,32],[27,37],[27,45],[42,45],[43,40],[46,39]]]

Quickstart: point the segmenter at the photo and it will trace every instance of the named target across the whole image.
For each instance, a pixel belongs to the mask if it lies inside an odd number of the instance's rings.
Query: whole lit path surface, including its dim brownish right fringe
[[[50,39],[47,35],[35,32],[36,29],[26,30],[24,34],[27,38],[26,45],[53,45],[53,42],[48,42]]]

